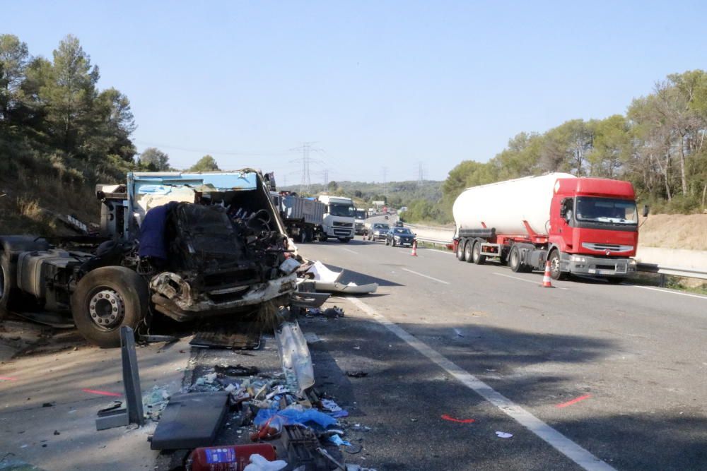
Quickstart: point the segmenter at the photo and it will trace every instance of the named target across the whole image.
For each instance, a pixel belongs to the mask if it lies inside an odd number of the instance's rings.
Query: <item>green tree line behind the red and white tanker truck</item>
[[[706,134],[707,73],[674,73],[634,99],[626,114],[522,132],[489,162],[461,162],[443,183],[436,217],[450,220],[452,202],[469,186],[545,172],[628,180],[657,210],[705,210]]]

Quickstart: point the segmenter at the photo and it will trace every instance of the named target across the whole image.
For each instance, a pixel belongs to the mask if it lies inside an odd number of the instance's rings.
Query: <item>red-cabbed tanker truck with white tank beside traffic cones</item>
[[[493,258],[517,273],[549,261],[554,280],[577,274],[619,283],[636,271],[635,198],[628,181],[566,173],[467,188],[452,207],[457,259]]]

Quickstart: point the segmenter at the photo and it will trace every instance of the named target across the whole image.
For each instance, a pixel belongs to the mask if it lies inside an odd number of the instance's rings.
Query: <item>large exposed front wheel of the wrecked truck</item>
[[[81,278],[71,296],[78,332],[103,348],[120,346],[120,327],[136,329],[148,311],[147,283],[120,266],[96,268]]]

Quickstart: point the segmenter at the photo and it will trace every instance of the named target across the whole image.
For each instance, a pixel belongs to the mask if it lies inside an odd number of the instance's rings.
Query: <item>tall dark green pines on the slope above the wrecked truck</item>
[[[128,97],[100,90],[100,71],[67,35],[51,59],[33,56],[15,35],[0,35],[0,174],[25,172],[93,184],[128,171],[173,169],[157,148],[138,154]],[[136,158],[137,157],[137,158]],[[218,170],[205,155],[189,170]]]

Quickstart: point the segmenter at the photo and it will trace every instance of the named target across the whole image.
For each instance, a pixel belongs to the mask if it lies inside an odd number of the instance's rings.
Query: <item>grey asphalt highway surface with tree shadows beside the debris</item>
[[[391,218],[392,222],[392,218]],[[382,242],[301,244],[375,295],[304,319],[379,470],[707,469],[707,297]],[[366,378],[345,372],[363,369]],[[496,432],[512,434],[502,438]],[[358,437],[358,438],[356,438]],[[364,459],[365,458],[365,459]]]

